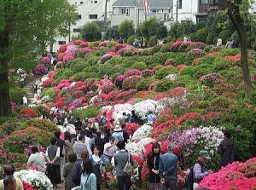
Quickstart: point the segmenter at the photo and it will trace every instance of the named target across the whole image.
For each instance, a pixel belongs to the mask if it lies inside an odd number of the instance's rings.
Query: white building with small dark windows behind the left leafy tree
[[[107,2],[107,20],[109,20],[112,4],[115,0],[68,0],[68,3],[74,4],[77,7],[79,20],[75,26],[70,27],[70,39],[79,35],[79,29],[84,26],[86,22],[96,21],[103,24],[105,14],[105,4]],[[69,42],[69,35],[67,37],[57,37],[53,45],[53,51],[56,52],[61,44]]]

